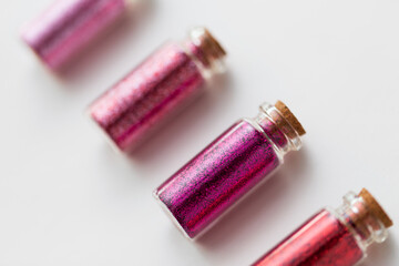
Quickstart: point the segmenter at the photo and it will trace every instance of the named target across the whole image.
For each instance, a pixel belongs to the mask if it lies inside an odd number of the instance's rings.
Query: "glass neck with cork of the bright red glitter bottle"
[[[387,228],[392,225],[383,209],[366,190],[359,195],[354,192],[347,193],[336,214],[352,233],[364,252],[372,243],[382,243],[388,236]]]

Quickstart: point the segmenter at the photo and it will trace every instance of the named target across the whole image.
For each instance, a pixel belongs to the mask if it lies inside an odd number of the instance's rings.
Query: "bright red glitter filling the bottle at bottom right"
[[[328,211],[321,211],[254,266],[352,266],[364,254],[355,236]]]

